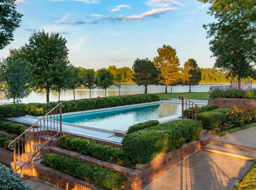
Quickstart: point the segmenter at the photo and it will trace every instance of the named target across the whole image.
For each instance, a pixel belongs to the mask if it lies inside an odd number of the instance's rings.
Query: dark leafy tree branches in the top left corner
[[[13,41],[13,33],[20,27],[22,14],[16,11],[16,0],[0,0],[0,50]]]

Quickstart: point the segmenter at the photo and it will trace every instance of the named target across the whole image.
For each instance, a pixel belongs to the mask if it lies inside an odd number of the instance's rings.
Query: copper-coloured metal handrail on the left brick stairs
[[[50,114],[50,113],[52,113],[52,112],[54,112],[54,110],[57,108],[57,117],[58,117],[58,106],[59,106],[59,117],[60,117],[60,123],[59,123],[59,132],[57,132],[50,140],[48,140],[47,142],[46,142],[46,144],[43,146],[43,147],[41,147],[39,150],[37,150],[34,154],[30,154],[30,158],[27,160],[27,161],[25,161],[24,163],[23,163],[23,160],[22,160],[22,165],[20,166],[19,165],[19,168],[18,169],[16,169],[16,140],[18,140],[20,137],[22,137],[22,146],[23,146],[23,135],[27,132],[27,131],[30,131],[30,129],[31,128],[33,128],[33,131],[34,131],[34,127],[35,127],[35,125],[37,126],[37,129],[38,129],[38,123],[40,122],[41,123],[41,121],[44,119],[44,128],[45,128],[45,118],[47,117],[47,138],[48,138],[48,115]],[[61,134],[62,134],[62,123],[61,123],[61,108],[62,107],[64,107],[65,106],[65,103],[63,103],[63,102],[60,102],[60,103],[58,103],[54,108],[52,108],[46,115],[44,115],[40,120],[38,120],[37,122],[35,122],[32,126],[30,126],[27,130],[25,130],[22,134],[20,134],[17,138],[15,138],[14,140],[12,140],[11,142],[10,142],[10,144],[8,145],[8,148],[10,149],[10,150],[14,150],[14,169],[16,170],[16,171],[18,171],[22,166],[24,166],[26,163],[28,163],[37,153],[39,153],[45,146],[47,146],[48,144],[49,144],[49,142],[51,142],[52,141],[52,139],[54,139],[57,135],[60,135],[61,136]],[[55,115],[55,114],[54,114]],[[51,118],[52,116],[50,116],[50,118]],[[51,121],[50,121],[51,122]],[[54,123],[55,124],[55,123]],[[41,126],[40,126],[41,128],[42,128],[42,124],[41,124]],[[58,126],[56,127],[56,129],[57,129],[57,131],[58,131]],[[55,130],[55,125],[54,125],[54,130]],[[37,131],[38,132],[38,131]],[[25,136],[25,138],[26,138],[26,136]],[[13,144],[13,145],[12,145]],[[30,145],[31,145],[31,142],[30,142]],[[37,145],[38,145],[38,142],[37,142]],[[18,140],[18,148],[19,148],[19,140]],[[23,149],[23,147],[22,147],[22,149]],[[31,146],[30,146],[30,149],[31,149]],[[19,150],[18,150],[19,151]],[[31,150],[30,150],[30,152],[31,152]],[[23,153],[23,151],[22,151],[22,153]],[[18,153],[19,154],[19,153]],[[18,155],[18,157],[20,157],[20,155]],[[19,162],[20,162],[20,158],[19,158]]]

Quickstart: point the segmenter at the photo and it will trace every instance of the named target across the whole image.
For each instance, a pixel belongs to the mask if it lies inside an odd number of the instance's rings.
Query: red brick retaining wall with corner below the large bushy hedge
[[[49,151],[52,153],[68,156],[70,158],[76,158],[86,163],[107,167],[123,173],[127,179],[126,184],[123,187],[125,190],[142,189],[197,150],[199,150],[199,140],[186,143],[182,148],[173,150],[162,156],[158,156],[146,164],[137,164],[134,170],[104,162],[89,156],[84,156],[72,151],[67,151],[58,147],[49,147]]]

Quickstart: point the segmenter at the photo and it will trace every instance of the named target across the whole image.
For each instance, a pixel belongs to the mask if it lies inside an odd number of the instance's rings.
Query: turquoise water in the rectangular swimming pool
[[[181,114],[181,108],[181,104],[158,103],[62,116],[62,122],[112,130],[148,120]]]

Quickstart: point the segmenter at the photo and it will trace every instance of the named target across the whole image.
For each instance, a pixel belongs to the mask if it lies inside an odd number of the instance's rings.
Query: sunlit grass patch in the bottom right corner
[[[253,163],[250,171],[237,183],[232,190],[253,190],[256,189],[256,162]]]

